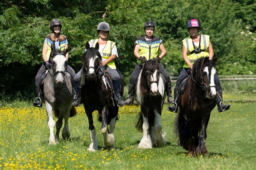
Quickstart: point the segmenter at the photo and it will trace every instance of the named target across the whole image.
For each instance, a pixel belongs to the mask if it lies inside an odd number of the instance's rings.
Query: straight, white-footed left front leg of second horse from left
[[[98,150],[98,140],[97,140],[96,131],[95,131],[95,128],[93,125],[93,111],[89,112],[89,111],[85,110],[85,113],[88,118],[89,131],[90,131],[90,137],[91,137],[90,146],[88,147],[87,150],[94,152],[94,151]]]

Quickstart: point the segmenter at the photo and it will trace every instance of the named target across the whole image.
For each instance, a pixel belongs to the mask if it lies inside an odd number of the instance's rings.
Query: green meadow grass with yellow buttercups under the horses
[[[256,103],[231,102],[231,109],[212,111],[207,127],[208,156],[191,157],[177,146],[174,134],[176,113],[162,115],[167,144],[164,147],[138,149],[143,134],[135,128],[139,106],[123,106],[116,122],[115,149],[105,150],[97,130],[99,150],[89,152],[90,134],[83,107],[70,118],[71,138],[48,145],[49,127],[45,108],[31,107],[28,102],[1,103],[0,169],[256,169]],[[4,105],[3,105],[4,104]],[[55,119],[56,121],[56,119]],[[61,137],[62,139],[62,137]]]

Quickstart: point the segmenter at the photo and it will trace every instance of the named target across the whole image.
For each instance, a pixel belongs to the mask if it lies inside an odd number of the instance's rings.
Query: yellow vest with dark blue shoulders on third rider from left
[[[153,37],[151,39],[151,45],[148,44],[147,40],[144,37],[138,37],[137,41],[140,45],[139,54],[141,57],[146,57],[146,59],[157,58],[158,50],[160,46],[161,39],[158,37]],[[137,63],[141,63],[140,59],[137,59]]]

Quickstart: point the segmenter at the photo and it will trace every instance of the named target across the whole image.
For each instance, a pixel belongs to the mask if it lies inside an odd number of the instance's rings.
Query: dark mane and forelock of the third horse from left
[[[159,67],[157,62],[153,59],[149,59],[143,65],[143,68],[141,71],[141,77],[140,77],[141,94],[148,95],[148,82],[147,82],[146,71],[149,71],[149,73],[154,73],[155,70],[159,70]]]

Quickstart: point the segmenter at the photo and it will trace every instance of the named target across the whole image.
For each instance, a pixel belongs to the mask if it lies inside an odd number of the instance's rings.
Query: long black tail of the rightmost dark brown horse
[[[189,149],[190,125],[179,110],[175,118],[175,134],[179,137],[178,145]]]

